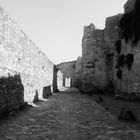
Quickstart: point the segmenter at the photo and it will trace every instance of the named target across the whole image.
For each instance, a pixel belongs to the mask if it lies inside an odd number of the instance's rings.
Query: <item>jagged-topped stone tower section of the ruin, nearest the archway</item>
[[[104,54],[104,31],[93,24],[84,27],[82,39],[82,88],[91,92],[107,84]]]

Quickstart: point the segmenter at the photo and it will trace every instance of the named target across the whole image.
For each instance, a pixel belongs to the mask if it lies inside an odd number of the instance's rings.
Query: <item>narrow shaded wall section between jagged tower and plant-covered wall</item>
[[[122,14],[118,14],[106,19],[104,30],[105,55],[106,55],[106,75],[109,83],[114,83],[116,44],[121,42],[119,34],[119,22]]]

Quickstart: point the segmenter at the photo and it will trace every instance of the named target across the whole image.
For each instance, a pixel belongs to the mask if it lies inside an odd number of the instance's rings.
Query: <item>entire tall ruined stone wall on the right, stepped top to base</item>
[[[139,5],[138,0],[128,0],[124,6],[125,13],[108,17],[104,30],[96,29],[93,24],[84,27],[81,72],[84,92],[113,88],[125,93],[140,93],[140,43],[138,41],[140,31],[137,26],[140,16]],[[124,23],[127,18],[135,19],[132,23],[129,23],[130,19]],[[128,27],[133,29],[126,30],[124,34],[126,36],[122,36],[121,24],[126,24],[124,28],[131,24],[136,25]],[[129,32],[134,34],[137,32],[135,40],[129,38]],[[138,43],[133,43],[133,40]]]

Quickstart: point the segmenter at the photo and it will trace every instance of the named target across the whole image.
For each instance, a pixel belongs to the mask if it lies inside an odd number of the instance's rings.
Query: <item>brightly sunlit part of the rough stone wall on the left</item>
[[[43,87],[52,85],[53,63],[0,8],[0,77],[19,74],[24,101],[32,102]],[[10,94],[10,93],[8,93]]]

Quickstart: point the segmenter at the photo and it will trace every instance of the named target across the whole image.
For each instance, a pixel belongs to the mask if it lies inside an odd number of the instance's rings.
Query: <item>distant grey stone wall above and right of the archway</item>
[[[71,79],[71,86],[76,86],[76,61],[60,63],[57,68],[60,69],[65,77]]]

